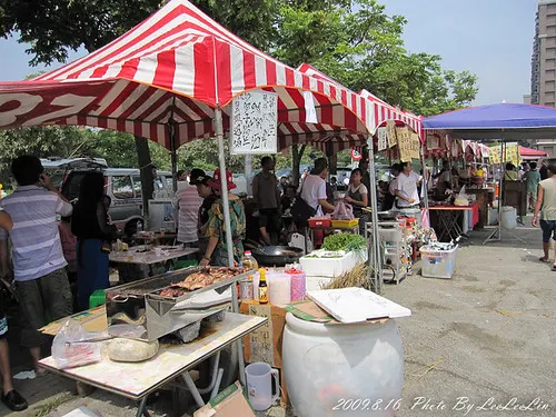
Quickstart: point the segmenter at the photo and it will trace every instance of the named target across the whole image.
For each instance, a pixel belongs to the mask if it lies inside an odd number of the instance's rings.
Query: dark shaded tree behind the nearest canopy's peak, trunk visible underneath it
[[[69,50],[89,52],[103,47],[146,19],[166,1],[136,0],[0,0],[0,36],[19,31],[30,43],[31,64],[64,61]],[[198,0],[202,10],[255,46],[268,49],[274,39],[274,0]],[[143,207],[152,196],[151,147],[145,138],[135,140],[141,167]]]

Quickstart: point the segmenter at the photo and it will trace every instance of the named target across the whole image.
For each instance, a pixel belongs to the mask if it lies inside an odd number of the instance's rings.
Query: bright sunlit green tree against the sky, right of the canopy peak
[[[405,18],[388,16],[375,0],[282,1],[279,10],[275,53],[291,66],[311,63],[354,91],[367,89],[424,116],[468,106],[477,93],[469,71],[443,70],[440,57],[409,53]]]

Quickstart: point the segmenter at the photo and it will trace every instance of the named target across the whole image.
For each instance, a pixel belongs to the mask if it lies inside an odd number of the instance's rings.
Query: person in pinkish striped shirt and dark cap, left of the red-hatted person
[[[203,177],[202,169],[195,168],[191,170],[189,183],[185,183],[182,188],[176,192],[176,203],[178,205],[178,241],[185,246],[196,248],[199,244],[197,236],[197,216],[202,199],[197,193],[197,181],[199,177]]]

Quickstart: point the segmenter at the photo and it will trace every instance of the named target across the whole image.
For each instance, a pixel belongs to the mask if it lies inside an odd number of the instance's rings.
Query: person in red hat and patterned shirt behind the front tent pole
[[[234,183],[231,171],[225,172],[228,190],[235,189],[237,186]],[[215,177],[208,181],[208,185],[215,191],[217,200],[210,207],[208,212],[208,226],[205,236],[209,239],[205,255],[200,261],[200,266],[229,266],[228,250],[226,240],[226,225],[224,221],[224,201],[221,198],[221,173],[217,169]],[[246,232],[246,218],[244,203],[239,197],[228,192],[228,203],[230,210],[230,232],[232,240],[234,260],[239,262],[244,256],[242,239]]]

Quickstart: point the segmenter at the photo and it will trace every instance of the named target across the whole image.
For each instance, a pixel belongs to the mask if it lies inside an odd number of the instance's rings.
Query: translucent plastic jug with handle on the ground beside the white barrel
[[[278,370],[265,363],[255,363],[246,366],[247,394],[249,403],[256,411],[264,411],[278,399],[280,389]],[[276,394],[272,395],[272,378],[276,381]]]

